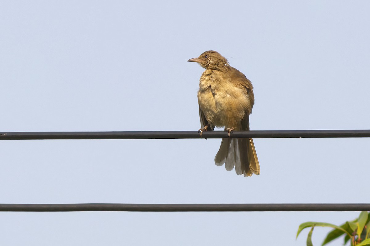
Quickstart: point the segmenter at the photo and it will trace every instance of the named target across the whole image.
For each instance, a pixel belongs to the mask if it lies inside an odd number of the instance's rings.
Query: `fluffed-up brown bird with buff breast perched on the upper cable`
[[[216,51],[206,51],[188,62],[198,62],[206,70],[199,80],[198,103],[201,129],[225,127],[225,131],[249,131],[249,114],[254,104],[252,83],[229,65]],[[215,156],[217,166],[225,164],[230,171],[235,166],[238,175],[259,174],[259,162],[252,138],[223,138]]]

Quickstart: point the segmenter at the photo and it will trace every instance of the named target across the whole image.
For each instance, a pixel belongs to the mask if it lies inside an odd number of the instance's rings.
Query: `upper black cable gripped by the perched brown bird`
[[[370,130],[233,131],[231,138],[369,138]],[[179,139],[201,138],[198,131],[137,132],[0,132],[0,140],[21,139]],[[203,138],[228,138],[225,131],[203,132]]]

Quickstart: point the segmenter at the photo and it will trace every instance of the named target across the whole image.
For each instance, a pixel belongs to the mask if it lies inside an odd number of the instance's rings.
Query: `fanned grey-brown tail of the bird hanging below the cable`
[[[215,156],[217,166],[226,163],[226,170],[235,166],[238,175],[252,176],[259,174],[259,162],[252,138],[223,138],[220,149]]]

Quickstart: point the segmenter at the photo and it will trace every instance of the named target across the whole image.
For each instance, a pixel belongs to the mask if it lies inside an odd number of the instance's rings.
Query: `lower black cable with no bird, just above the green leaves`
[[[227,211],[370,211],[365,203],[295,203],[295,204],[0,204],[0,211],[70,212],[70,211],[131,211],[131,212],[227,212]]]

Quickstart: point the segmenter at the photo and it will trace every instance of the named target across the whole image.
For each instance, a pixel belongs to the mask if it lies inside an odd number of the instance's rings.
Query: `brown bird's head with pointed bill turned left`
[[[203,52],[198,58],[189,59],[188,62],[198,62],[205,69],[218,69],[229,64],[228,60],[216,51]]]

